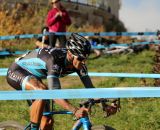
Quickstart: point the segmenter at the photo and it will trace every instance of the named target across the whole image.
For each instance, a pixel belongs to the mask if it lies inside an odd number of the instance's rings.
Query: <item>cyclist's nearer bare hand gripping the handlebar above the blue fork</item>
[[[85,117],[88,115],[88,109],[81,107],[81,108],[77,109],[77,111],[74,113],[74,115],[76,116],[77,119],[79,119],[81,117]]]

